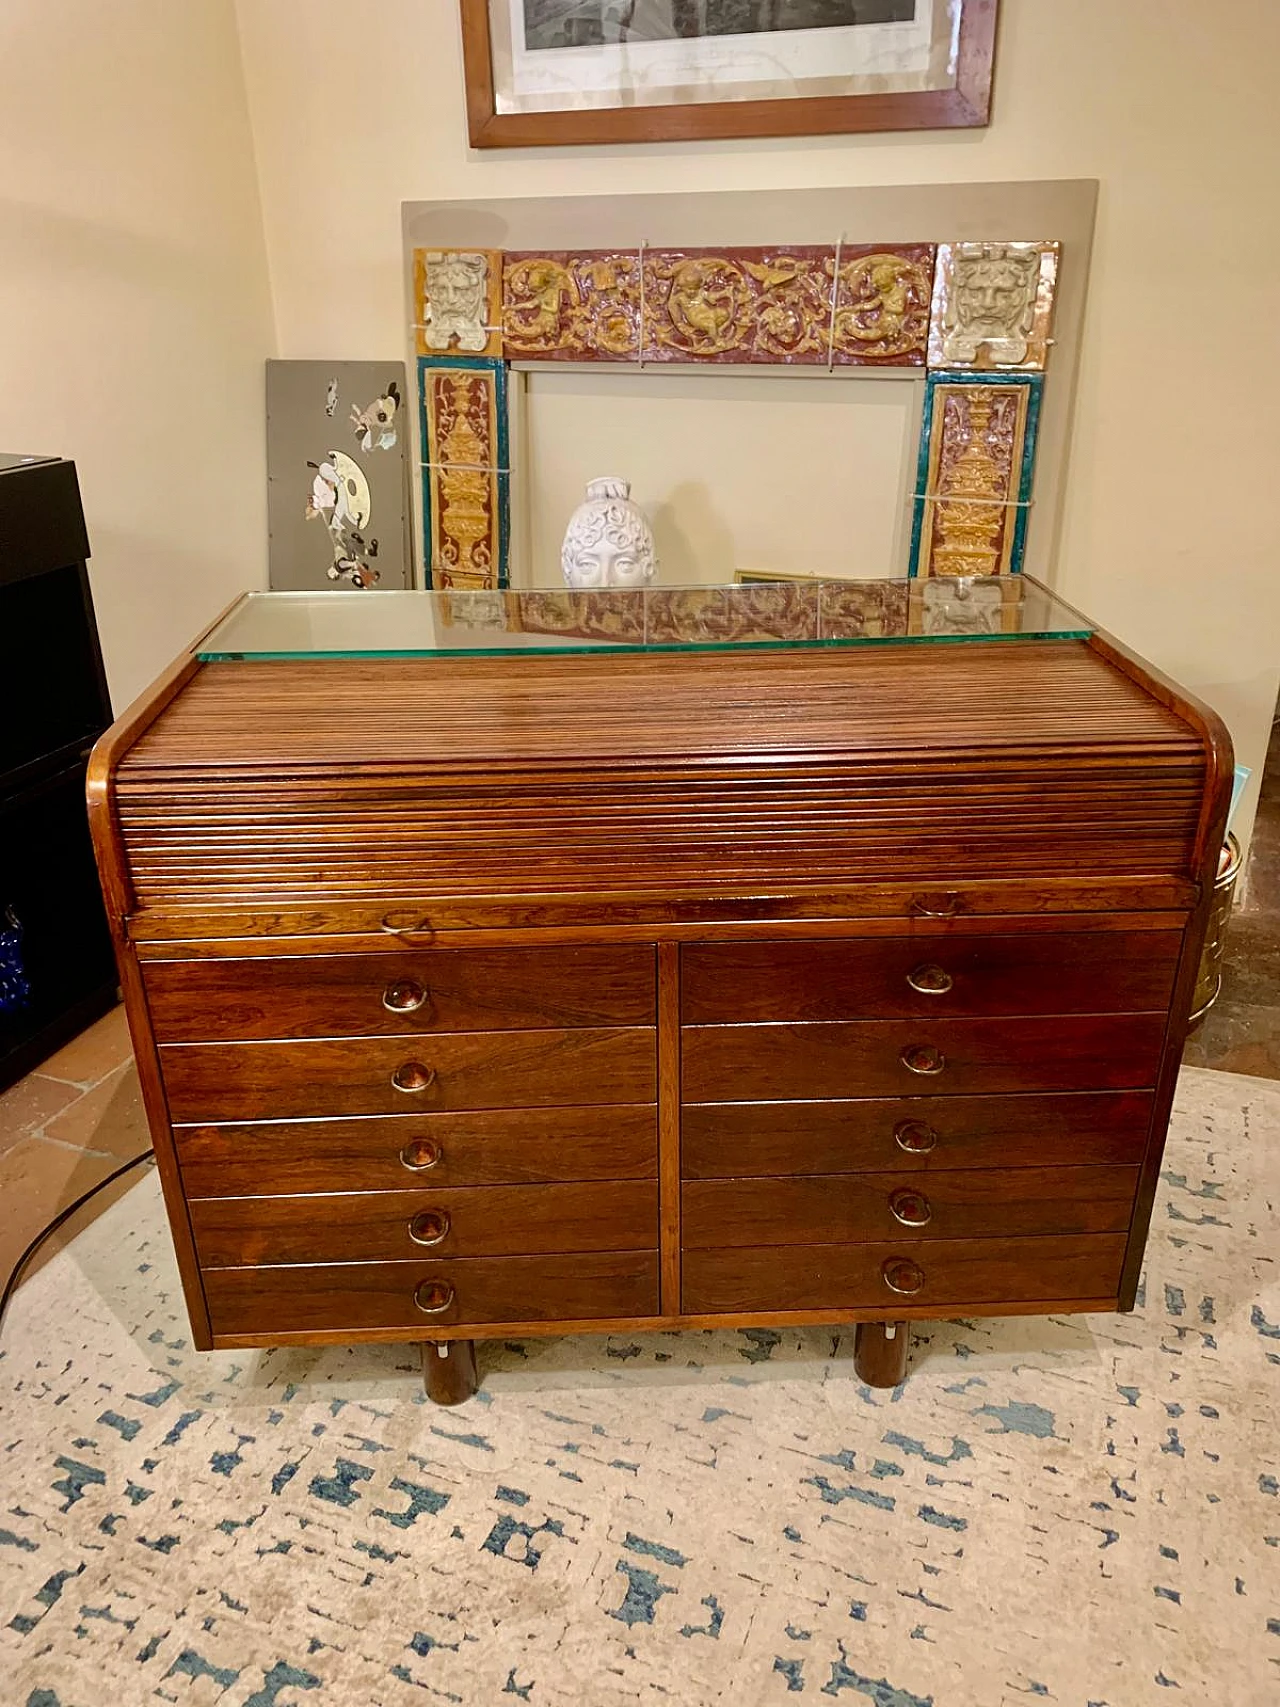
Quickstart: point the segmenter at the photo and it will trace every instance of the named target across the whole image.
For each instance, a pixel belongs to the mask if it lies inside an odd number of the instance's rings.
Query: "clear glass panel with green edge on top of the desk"
[[[1087,638],[1029,575],[751,582],[579,592],[249,592],[207,661],[415,654],[655,652]]]

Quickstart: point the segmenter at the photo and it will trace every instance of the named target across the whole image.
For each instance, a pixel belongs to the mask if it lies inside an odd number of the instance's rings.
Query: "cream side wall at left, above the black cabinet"
[[[116,708],[266,560],[232,0],[0,5],[0,447],[75,459]]]

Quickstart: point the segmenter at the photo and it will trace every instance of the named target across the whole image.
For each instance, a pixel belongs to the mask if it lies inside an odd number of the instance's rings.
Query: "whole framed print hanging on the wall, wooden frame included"
[[[985,125],[998,0],[459,0],[471,143]]]

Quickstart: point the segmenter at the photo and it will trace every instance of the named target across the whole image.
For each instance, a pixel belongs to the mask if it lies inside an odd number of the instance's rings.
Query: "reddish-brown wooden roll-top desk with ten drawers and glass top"
[[[485,1337],[893,1383],[913,1318],[1130,1309],[1231,748],[957,597],[253,594],[179,659],[90,818],[196,1343],[451,1401]]]

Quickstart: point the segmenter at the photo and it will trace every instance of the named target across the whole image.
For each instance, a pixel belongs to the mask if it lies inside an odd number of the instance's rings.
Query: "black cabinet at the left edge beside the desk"
[[[118,999],[85,814],[111,722],[75,464],[0,456],[0,1089]]]

